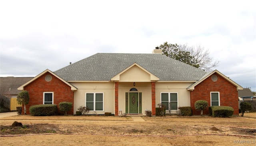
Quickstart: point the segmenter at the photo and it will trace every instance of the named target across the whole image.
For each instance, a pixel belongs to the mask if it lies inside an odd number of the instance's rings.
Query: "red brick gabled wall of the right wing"
[[[234,108],[234,114],[238,114],[238,91],[236,86],[232,83],[214,73],[218,77],[217,81],[212,81],[211,77],[208,77],[200,84],[198,84],[194,91],[190,92],[190,105],[192,113],[200,114],[200,111],[195,110],[195,102],[198,100],[205,100],[208,102],[208,106],[211,106],[210,92],[220,92],[220,106],[229,106]],[[208,114],[208,108],[203,111],[203,114]]]

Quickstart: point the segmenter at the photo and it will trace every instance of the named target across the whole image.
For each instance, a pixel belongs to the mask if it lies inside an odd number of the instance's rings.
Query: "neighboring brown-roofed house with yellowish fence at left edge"
[[[16,98],[21,92],[17,88],[33,79],[33,77],[0,77],[1,103],[10,110],[16,110]],[[1,104],[1,105],[2,105]]]

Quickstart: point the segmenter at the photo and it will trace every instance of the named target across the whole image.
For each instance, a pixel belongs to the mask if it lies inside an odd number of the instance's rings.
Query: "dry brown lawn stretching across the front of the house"
[[[256,113],[244,117],[30,116],[0,118],[0,145],[255,145]],[[14,122],[22,127],[10,127]],[[239,140],[239,141],[238,141]]]

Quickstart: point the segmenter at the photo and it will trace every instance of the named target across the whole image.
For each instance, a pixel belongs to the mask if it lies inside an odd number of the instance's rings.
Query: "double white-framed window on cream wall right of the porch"
[[[171,110],[178,110],[178,93],[161,93],[161,103],[166,106],[166,110],[169,107]]]

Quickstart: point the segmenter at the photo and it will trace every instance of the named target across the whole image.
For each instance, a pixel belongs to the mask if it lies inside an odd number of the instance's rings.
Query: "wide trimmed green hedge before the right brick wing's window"
[[[234,113],[232,107],[227,106],[212,106],[209,107],[209,115],[214,117],[230,117]]]

